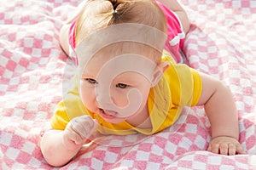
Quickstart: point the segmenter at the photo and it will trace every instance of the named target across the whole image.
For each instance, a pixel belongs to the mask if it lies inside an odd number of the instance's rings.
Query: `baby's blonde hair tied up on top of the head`
[[[75,42],[79,44],[94,31],[123,23],[167,31],[165,14],[154,0],[88,0],[77,21]]]

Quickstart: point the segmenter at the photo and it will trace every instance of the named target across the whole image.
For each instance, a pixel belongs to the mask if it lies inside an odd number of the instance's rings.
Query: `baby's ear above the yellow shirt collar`
[[[163,76],[164,72],[169,68],[170,64],[168,61],[161,62],[157,67],[155,67],[154,73],[152,75],[151,86],[154,87]]]

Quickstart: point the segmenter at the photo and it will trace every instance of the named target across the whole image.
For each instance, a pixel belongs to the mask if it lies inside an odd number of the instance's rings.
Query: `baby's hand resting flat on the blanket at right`
[[[236,139],[226,136],[220,136],[212,139],[209,144],[208,151],[226,156],[246,153]]]

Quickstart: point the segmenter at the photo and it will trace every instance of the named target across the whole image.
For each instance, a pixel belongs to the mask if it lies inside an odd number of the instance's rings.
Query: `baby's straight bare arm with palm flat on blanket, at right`
[[[204,105],[212,128],[208,150],[223,155],[243,154],[239,140],[236,105],[230,90],[213,77],[201,73],[202,94],[197,105]]]

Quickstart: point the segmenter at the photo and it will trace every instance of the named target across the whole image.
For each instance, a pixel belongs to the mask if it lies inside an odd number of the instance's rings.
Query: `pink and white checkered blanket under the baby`
[[[53,168],[44,161],[39,139],[73,71],[58,38],[62,20],[78,3],[1,0],[0,169]],[[218,77],[234,94],[247,155],[207,152],[210,124],[195,107],[174,126],[137,143],[129,144],[139,138],[133,136],[91,144],[61,169],[256,169],[256,1],[181,3],[192,22],[184,46],[189,65]]]

